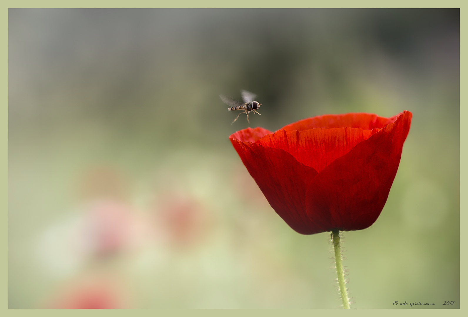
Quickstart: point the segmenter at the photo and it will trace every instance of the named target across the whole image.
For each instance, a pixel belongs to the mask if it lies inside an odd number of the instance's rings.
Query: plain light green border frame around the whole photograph
[[[0,165],[3,168],[0,170],[0,206],[1,218],[0,223],[2,230],[0,230],[1,241],[1,261],[0,268],[3,274],[0,277],[0,298],[1,307],[0,312],[3,311],[2,316],[81,316],[87,314],[88,316],[128,316],[129,314],[138,316],[203,316],[203,317],[230,317],[230,316],[292,316],[292,317],[310,317],[318,314],[319,316],[341,316],[344,314],[343,310],[22,310],[22,309],[8,309],[8,8],[56,8],[56,7],[200,7],[200,8],[229,8],[229,7],[277,7],[277,8],[292,8],[292,7],[316,7],[316,8],[364,8],[364,7],[380,7],[380,8],[410,8],[410,7],[458,7],[460,8],[460,122],[464,122],[468,118],[468,107],[466,104],[467,96],[463,89],[466,87],[467,79],[466,73],[463,71],[467,69],[465,62],[465,53],[467,52],[467,18],[468,14],[464,11],[463,7],[466,2],[461,0],[453,1],[418,1],[418,0],[384,0],[384,1],[370,1],[370,0],[332,0],[332,1],[306,1],[306,0],[236,0],[236,1],[214,1],[214,0],[133,0],[133,1],[102,1],[102,0],[81,0],[81,1],[6,1],[6,6],[3,9],[1,37],[3,38],[4,49],[2,50],[4,62],[1,64],[1,70],[4,74],[2,77],[3,85],[1,91],[3,94],[4,106],[0,108]],[[465,6],[463,6],[465,4]],[[468,234],[462,230],[467,223],[468,212],[468,127],[467,125],[460,124],[460,240],[467,242]],[[460,268],[467,267],[466,243],[460,244]],[[466,270],[460,270],[461,285],[467,282]],[[399,316],[462,316],[468,313],[468,291],[466,288],[460,289],[460,309],[459,310],[347,310],[347,316],[379,316],[384,315],[399,315]],[[465,311],[463,313],[462,311]]]

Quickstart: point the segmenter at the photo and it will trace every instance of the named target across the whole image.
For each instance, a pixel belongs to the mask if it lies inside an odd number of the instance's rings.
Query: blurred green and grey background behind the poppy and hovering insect
[[[351,307],[459,308],[459,12],[9,9],[9,308],[339,308],[329,233],[228,136],[402,110],[387,204],[344,232]],[[241,89],[262,116],[231,125]]]

